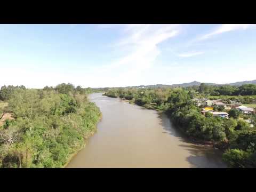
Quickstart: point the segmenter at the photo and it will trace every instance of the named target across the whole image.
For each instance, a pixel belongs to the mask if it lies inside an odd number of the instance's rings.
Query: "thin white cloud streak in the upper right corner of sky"
[[[198,40],[208,39],[212,36],[222,34],[222,33],[226,33],[228,31],[245,30],[245,29],[247,29],[249,27],[252,27],[252,26],[253,26],[252,24],[222,24],[218,28],[213,30],[211,33],[205,34],[205,35],[199,37]]]

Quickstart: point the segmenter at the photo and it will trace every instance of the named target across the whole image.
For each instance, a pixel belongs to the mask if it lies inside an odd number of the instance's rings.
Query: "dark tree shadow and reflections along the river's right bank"
[[[106,105],[117,105],[119,102],[126,102],[122,99],[102,97],[102,95],[97,94],[97,97],[93,98],[93,101],[101,101]],[[127,103],[127,102],[126,102]],[[127,103],[128,105],[132,105]],[[193,141],[189,140],[185,133],[183,133],[178,127],[174,126],[171,122],[169,116],[164,112],[159,112],[154,109],[148,109],[145,107],[132,105],[135,108],[140,108],[142,110],[150,110],[152,113],[157,114],[159,120],[159,125],[163,128],[163,134],[169,134],[178,140],[177,146],[188,151],[188,156],[186,156],[186,161],[189,163],[190,167],[227,167],[225,163],[222,162],[222,153],[218,149],[213,147],[206,147],[202,145],[196,145]],[[176,141],[174,141],[176,142]]]

